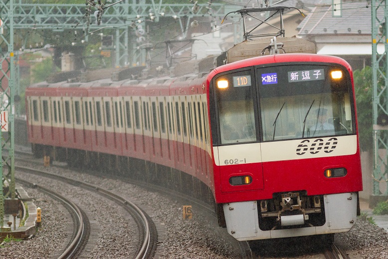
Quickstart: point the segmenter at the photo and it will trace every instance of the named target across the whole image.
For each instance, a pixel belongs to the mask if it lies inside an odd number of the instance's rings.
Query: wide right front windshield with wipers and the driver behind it
[[[290,64],[258,68],[257,76],[264,141],[355,134],[345,68]]]

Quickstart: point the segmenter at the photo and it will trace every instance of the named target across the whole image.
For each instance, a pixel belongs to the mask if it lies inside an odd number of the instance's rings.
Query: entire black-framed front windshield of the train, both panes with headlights
[[[351,86],[345,68],[320,63],[245,68],[222,74],[214,81],[215,142],[355,134]]]

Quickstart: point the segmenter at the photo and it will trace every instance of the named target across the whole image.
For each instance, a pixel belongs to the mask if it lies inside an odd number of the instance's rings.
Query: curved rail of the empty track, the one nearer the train
[[[141,259],[141,258],[152,258],[155,251],[156,251],[156,244],[157,244],[157,231],[154,223],[152,222],[151,218],[145,214],[138,206],[133,204],[131,201],[114,194],[112,192],[109,192],[105,189],[102,189],[100,187],[87,184],[84,182],[76,181],[74,179],[70,179],[64,176],[59,176],[55,174],[51,174],[48,172],[44,172],[41,170],[36,170],[28,167],[23,166],[15,166],[15,169],[17,169],[19,172],[24,172],[28,174],[35,174],[42,177],[48,177],[51,179],[56,179],[65,183],[68,183],[70,185],[74,185],[80,188],[87,189],[89,191],[93,191],[98,193],[99,195],[108,198],[121,207],[123,207],[128,213],[134,218],[138,228],[139,228],[139,243],[138,247],[136,249],[136,252],[134,253],[134,258]],[[43,187],[39,187],[43,188]],[[41,189],[43,190],[43,189]],[[82,212],[78,213],[79,218],[84,218],[84,215],[82,215]],[[73,241],[72,243],[79,243]],[[72,255],[72,254],[70,254]],[[60,258],[68,258],[68,257],[60,257]]]

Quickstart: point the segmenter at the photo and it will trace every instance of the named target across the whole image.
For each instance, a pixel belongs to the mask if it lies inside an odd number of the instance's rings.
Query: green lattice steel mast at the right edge
[[[388,27],[387,0],[372,1],[374,183],[371,205],[388,198]],[[384,45],[384,52],[377,51]]]

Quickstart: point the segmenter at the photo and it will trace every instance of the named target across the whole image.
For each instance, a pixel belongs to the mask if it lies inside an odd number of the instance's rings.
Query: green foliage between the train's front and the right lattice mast
[[[373,101],[372,101],[372,68],[356,70],[354,75],[357,102],[357,117],[360,134],[360,148],[370,151],[373,148]]]

